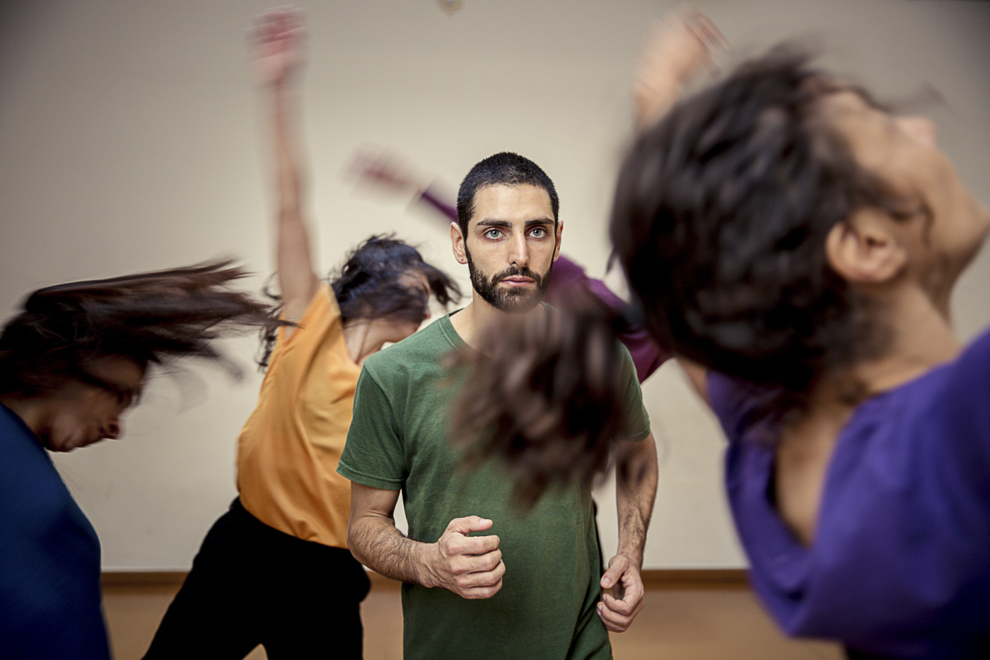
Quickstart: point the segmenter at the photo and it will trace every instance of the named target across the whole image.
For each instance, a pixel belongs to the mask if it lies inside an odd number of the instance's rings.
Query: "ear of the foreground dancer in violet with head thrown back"
[[[829,265],[850,282],[890,281],[908,262],[896,222],[879,209],[864,208],[837,223],[825,240]]]

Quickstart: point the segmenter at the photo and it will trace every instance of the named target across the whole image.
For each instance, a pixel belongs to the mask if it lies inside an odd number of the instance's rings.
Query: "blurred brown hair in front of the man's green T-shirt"
[[[549,488],[604,476],[613,441],[630,435],[623,425],[630,374],[616,339],[626,323],[583,298],[565,311],[509,317],[482,338],[484,354],[452,355],[452,366],[469,369],[450,434],[464,446],[466,465],[490,458],[508,465],[514,501],[526,509]]]

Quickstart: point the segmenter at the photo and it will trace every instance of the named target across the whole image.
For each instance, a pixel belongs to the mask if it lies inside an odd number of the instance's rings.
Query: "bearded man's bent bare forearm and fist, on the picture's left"
[[[436,543],[405,536],[395,526],[398,491],[350,484],[350,553],[381,575],[424,587],[443,587],[465,599],[488,599],[502,588],[505,564],[498,536],[468,536],[492,521],[454,518]]]

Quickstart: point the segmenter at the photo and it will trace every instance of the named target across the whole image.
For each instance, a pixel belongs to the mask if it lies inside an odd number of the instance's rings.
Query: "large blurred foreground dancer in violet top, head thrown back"
[[[616,252],[729,437],[752,582],[792,634],[990,657],[990,333],[963,348],[949,314],[988,229],[931,122],[788,49],[625,160]]]

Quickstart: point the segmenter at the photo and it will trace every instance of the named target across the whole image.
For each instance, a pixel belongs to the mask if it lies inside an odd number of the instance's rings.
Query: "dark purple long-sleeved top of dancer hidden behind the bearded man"
[[[423,191],[421,199],[453,222],[457,221],[457,209],[447,204],[430,188]],[[627,307],[626,301],[613,293],[605,282],[589,277],[584,273],[583,268],[560,255],[553,265],[553,276],[550,277],[550,284],[546,289],[545,301],[559,307],[566,305],[568,301],[573,303],[582,295],[593,295],[618,311],[623,311]],[[641,325],[627,326],[619,333],[619,341],[633,356],[633,364],[636,365],[636,375],[640,383],[649,378],[670,357],[666,351],[653,343]]]

